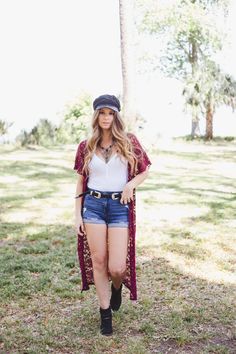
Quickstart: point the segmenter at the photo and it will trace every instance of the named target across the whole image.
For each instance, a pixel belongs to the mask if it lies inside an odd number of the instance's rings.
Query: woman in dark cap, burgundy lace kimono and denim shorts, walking
[[[122,285],[137,299],[135,188],[151,163],[137,138],[125,132],[115,96],[99,96],[93,108],[92,136],[79,144],[75,159],[75,223],[82,291],[95,284],[101,334],[111,335],[111,310],[120,308]]]

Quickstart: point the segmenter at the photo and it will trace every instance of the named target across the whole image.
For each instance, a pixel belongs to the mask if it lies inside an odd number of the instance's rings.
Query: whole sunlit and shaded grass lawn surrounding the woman
[[[175,141],[137,192],[138,300],[114,335],[81,293],[75,146],[0,150],[0,353],[234,353],[234,141]]]

